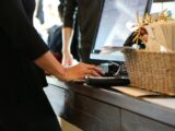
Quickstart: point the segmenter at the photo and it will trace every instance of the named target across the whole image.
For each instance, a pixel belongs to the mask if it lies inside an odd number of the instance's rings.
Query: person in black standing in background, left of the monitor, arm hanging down
[[[73,57],[70,44],[73,34],[74,13],[78,11],[78,26],[80,28],[80,58],[91,63],[90,51],[94,39],[95,28],[103,0],[67,0],[63,12],[63,48],[62,64],[72,64]]]

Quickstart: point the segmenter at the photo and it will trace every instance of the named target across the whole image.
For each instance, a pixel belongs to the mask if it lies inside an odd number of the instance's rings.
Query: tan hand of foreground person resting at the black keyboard
[[[66,69],[66,81],[83,80],[85,76],[102,76],[104,71],[93,64],[79,63]]]

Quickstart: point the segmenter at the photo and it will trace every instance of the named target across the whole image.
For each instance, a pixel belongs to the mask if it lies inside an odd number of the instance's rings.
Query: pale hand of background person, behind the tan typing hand
[[[73,64],[73,57],[70,52],[65,52],[62,55],[62,66],[72,66]]]

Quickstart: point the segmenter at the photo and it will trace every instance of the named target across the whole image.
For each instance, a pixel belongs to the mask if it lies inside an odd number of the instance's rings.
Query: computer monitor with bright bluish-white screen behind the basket
[[[136,25],[137,13],[143,17],[151,4],[152,0],[104,0],[90,58],[125,61],[120,50]]]

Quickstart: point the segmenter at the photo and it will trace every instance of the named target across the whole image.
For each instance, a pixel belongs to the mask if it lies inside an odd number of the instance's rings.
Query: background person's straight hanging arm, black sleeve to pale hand
[[[62,64],[71,66],[73,57],[71,55],[71,43],[74,34],[75,8],[77,0],[67,0],[63,10],[63,27],[62,27]]]

